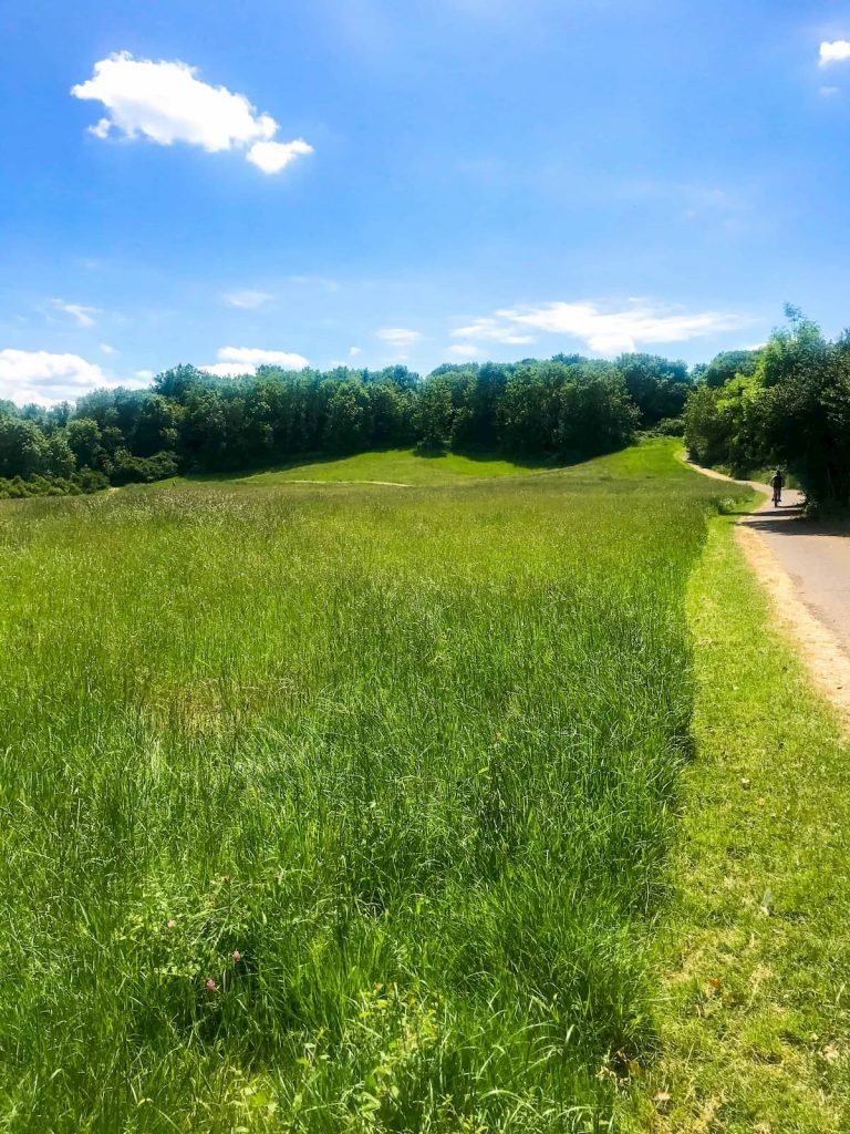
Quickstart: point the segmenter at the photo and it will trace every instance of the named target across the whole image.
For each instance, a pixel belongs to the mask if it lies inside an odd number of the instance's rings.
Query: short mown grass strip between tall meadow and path
[[[850,751],[732,539],[691,578],[697,754],[661,959],[658,1066],[623,1127],[850,1128]]]

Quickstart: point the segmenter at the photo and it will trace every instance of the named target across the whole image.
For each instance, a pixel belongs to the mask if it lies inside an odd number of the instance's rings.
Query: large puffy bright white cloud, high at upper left
[[[90,127],[99,138],[114,130],[158,145],[187,142],[218,153],[237,150],[264,174],[280,172],[301,154],[313,153],[303,138],[274,142],[279,126],[258,115],[244,94],[202,82],[196,67],[134,59],[121,51],[94,65],[94,75],[71,87],[75,99],[102,102],[107,117]]]

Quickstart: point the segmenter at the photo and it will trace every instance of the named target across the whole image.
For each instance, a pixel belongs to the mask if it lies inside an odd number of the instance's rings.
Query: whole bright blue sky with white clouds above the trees
[[[0,398],[850,323],[850,2],[5,0]]]

